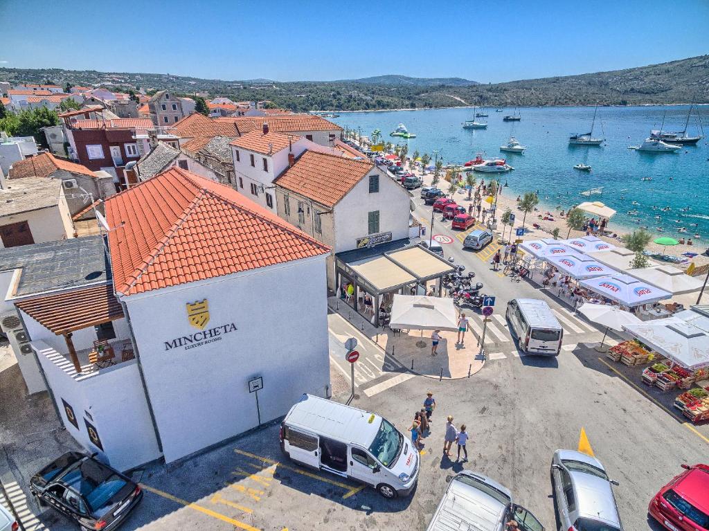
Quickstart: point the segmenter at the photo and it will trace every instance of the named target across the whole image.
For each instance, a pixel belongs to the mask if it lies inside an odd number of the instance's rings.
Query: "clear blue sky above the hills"
[[[503,82],[709,53],[709,1],[0,0],[0,66]]]

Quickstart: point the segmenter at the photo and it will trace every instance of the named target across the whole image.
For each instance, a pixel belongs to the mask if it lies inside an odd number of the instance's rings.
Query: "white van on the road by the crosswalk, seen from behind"
[[[520,350],[527,354],[559,355],[564,328],[545,301],[513,298],[507,303],[506,317]]]

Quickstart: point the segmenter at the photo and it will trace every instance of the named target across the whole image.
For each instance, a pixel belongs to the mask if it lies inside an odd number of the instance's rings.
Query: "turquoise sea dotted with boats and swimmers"
[[[485,130],[462,128],[465,120],[473,118],[472,108],[341,113],[332,120],[342,127],[361,128],[361,134],[367,136],[379,128],[390,142],[395,142],[396,137],[389,137],[389,132],[403,123],[417,137],[396,139],[395,143],[408,143],[410,156],[415,150],[429,154],[440,150],[445,164],[474,159],[476,152],[485,152],[488,158],[506,158],[515,170],[502,174],[501,179],[503,184],[508,182],[513,194],[538,190],[542,204],[551,208],[602,201],[618,211],[612,224],[623,228],[645,226],[652,233],[658,233],[660,227],[664,235],[673,237],[699,233],[700,244],[709,242],[708,139],[685,146],[679,153],[652,155],[627,149],[640,145],[651,129],[659,128],[663,114],[663,130],[682,130],[688,106],[599,107],[593,136],[605,137],[601,147],[568,144],[570,133],[588,133],[591,129],[593,107],[519,108],[519,122],[502,121],[503,116],[513,114],[512,108],[501,113],[494,108],[484,111],[489,117],[476,120],[488,122]],[[700,125],[704,125],[704,133],[709,133],[707,106],[693,108],[688,133],[702,133]],[[524,155],[500,151],[510,135],[527,146]],[[574,169],[579,162],[590,164],[593,171]],[[476,177],[487,180],[489,174]],[[643,181],[643,177],[651,177],[652,181]],[[604,186],[602,195],[590,199],[580,195],[581,191],[598,186]],[[671,211],[660,211],[667,206]],[[681,211],[687,207],[687,211]],[[637,216],[628,211],[637,211]],[[680,227],[686,227],[687,232],[678,233]]]

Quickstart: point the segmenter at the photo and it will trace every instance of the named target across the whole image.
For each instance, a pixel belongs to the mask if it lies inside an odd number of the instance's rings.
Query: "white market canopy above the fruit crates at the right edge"
[[[686,369],[709,367],[709,316],[696,308],[623,328]]]

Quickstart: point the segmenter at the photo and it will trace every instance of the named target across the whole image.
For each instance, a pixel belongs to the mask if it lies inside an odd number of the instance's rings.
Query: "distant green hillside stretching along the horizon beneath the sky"
[[[399,75],[335,82],[223,81],[172,74],[0,68],[0,81],[71,83],[178,94],[206,92],[235,101],[271,100],[293,111],[543,105],[709,104],[709,55],[647,67],[566,77],[476,84],[462,78]]]

